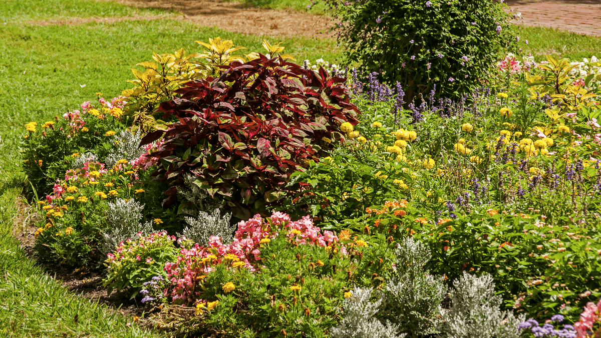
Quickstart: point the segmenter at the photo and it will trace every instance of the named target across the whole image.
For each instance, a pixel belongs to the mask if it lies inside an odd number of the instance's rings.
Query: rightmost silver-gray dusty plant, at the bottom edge
[[[464,271],[451,290],[451,309],[439,308],[442,337],[519,337],[518,325],[525,316],[515,318],[509,311],[501,312],[501,303],[490,275],[475,277]]]

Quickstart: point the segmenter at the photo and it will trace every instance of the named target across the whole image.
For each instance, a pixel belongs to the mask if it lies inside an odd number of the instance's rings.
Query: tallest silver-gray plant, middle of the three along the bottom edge
[[[380,316],[413,336],[435,333],[438,307],[447,287],[443,276],[436,277],[423,268],[432,258],[430,249],[408,237],[397,248],[396,256],[397,271],[386,283]]]

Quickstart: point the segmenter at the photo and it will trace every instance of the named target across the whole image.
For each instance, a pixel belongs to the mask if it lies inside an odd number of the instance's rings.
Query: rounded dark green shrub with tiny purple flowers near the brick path
[[[347,60],[400,82],[407,102],[435,85],[442,96],[466,93],[516,39],[506,5],[496,1],[326,2],[341,20]]]

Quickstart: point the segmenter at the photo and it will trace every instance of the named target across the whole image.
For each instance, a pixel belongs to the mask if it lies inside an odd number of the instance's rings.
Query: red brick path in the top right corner
[[[601,36],[601,0],[506,0],[520,24]]]

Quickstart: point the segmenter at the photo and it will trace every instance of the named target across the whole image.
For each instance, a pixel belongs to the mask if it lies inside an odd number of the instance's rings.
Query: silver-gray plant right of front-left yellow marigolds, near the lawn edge
[[[144,205],[136,200],[122,200],[117,198],[115,203],[108,203],[106,212],[108,227],[102,233],[100,251],[104,255],[115,251],[121,241],[135,238],[139,232],[148,235],[153,232],[152,223],[142,223],[142,209]]]

